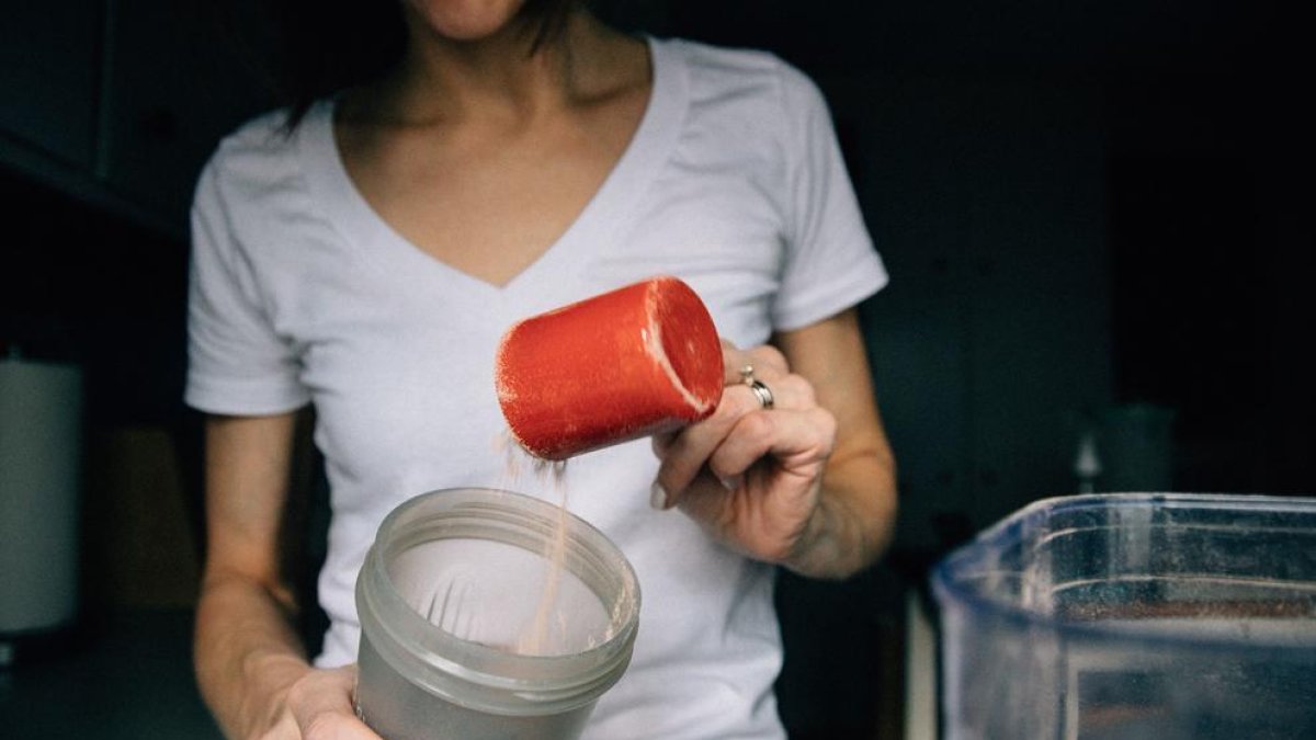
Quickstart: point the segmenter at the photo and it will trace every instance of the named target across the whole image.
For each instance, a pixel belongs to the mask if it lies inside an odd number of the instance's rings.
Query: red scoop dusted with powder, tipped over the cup
[[[661,277],[513,324],[494,377],[521,446],[566,460],[712,413],[722,350],[695,291]]]

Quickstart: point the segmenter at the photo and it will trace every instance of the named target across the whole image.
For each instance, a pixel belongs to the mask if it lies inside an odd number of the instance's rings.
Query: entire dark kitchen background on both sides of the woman
[[[180,496],[170,511],[195,532],[186,208],[217,138],[276,103],[251,65],[268,40],[229,33],[259,4],[12,5],[0,346],[83,366],[91,511],[145,495],[99,483],[122,479],[107,440],[158,431],[175,461],[157,495]],[[849,585],[783,581],[796,736],[892,727],[903,590],[1019,506],[1075,492],[1084,432],[1145,440],[1132,462],[1099,444],[1098,490],[1313,494],[1316,121],[1298,5],[603,4],[812,75],[892,273],[863,319],[900,461],[898,549]],[[88,568],[93,600],[137,606],[107,569]]]

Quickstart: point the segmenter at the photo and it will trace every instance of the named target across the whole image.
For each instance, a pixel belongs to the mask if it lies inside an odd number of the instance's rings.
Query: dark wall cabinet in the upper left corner
[[[0,26],[0,166],[186,233],[220,137],[272,105],[215,12],[168,0],[14,8]]]

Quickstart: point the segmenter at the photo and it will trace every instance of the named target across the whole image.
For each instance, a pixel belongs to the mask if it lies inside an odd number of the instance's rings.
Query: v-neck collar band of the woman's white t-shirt
[[[334,100],[312,107],[301,124],[299,145],[308,187],[321,215],[374,265],[403,279],[420,280],[428,290],[436,283],[446,290],[501,295],[521,284],[572,265],[579,265],[591,245],[616,230],[675,146],[688,105],[687,70],[669,42],[646,38],[653,86],[649,103],[630,142],[575,220],[549,248],[511,280],[499,286],[459,270],[425,253],[397,233],[370,205],[351,182],[334,141]]]

